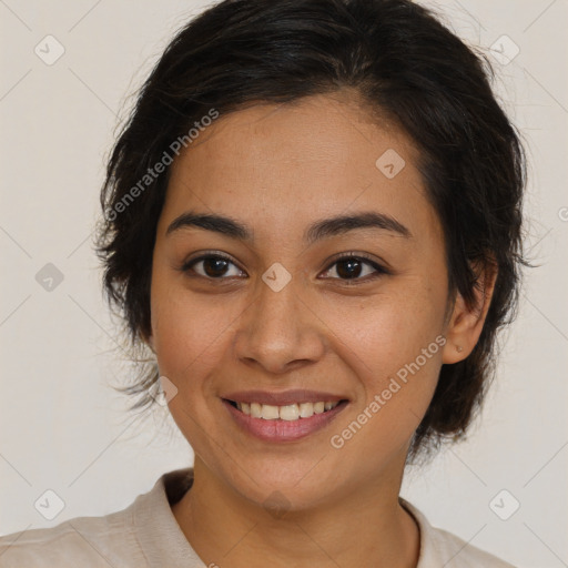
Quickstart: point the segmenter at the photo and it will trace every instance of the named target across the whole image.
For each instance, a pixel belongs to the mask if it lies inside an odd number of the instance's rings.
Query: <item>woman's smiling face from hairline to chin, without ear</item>
[[[307,508],[399,481],[448,349],[443,233],[416,156],[317,95],[222,115],[174,162],[150,339],[196,459],[243,497]],[[375,224],[312,229],[345,215]]]

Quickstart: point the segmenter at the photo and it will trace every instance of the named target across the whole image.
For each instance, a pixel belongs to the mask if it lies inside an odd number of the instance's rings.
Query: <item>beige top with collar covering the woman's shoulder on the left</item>
[[[170,508],[193,483],[191,468],[163,474],[125,509],[75,517],[0,537],[2,568],[202,566]]]

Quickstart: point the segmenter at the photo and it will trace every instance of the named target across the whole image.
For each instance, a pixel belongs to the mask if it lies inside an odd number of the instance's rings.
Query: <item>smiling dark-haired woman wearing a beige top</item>
[[[518,295],[524,153],[490,68],[408,0],[236,0],[145,82],[104,285],[195,453],[2,566],[506,567],[399,497],[462,437]],[[158,399],[159,400],[159,399]]]

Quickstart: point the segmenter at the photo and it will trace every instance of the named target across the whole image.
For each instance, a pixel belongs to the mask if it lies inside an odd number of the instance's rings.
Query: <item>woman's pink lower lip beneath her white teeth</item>
[[[227,400],[223,400],[224,406],[230,412],[234,420],[248,434],[264,442],[294,442],[305,438],[310,434],[327,426],[346,406],[347,400],[342,400],[335,408],[322,414],[314,414],[310,418],[298,418],[297,420],[265,420],[264,418],[253,418],[239,408],[235,408]]]

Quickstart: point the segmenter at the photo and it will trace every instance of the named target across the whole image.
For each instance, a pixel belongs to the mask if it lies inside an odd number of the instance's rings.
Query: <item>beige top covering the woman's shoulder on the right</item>
[[[424,514],[400,498],[403,507],[420,528],[420,556],[416,568],[515,568],[513,565],[481,550],[447,530],[433,527]]]

